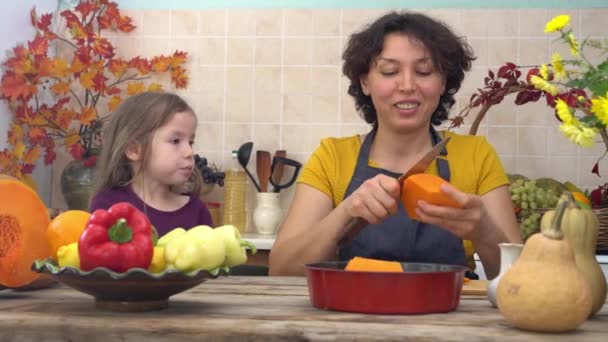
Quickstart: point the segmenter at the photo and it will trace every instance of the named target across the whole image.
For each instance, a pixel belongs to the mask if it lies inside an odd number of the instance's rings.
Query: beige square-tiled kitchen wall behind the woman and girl
[[[253,141],[255,149],[286,149],[289,157],[305,162],[321,138],[368,130],[346,94],[340,56],[350,33],[386,11],[129,10],[126,13],[137,29],[110,38],[125,57],[176,49],[189,53],[192,80],[180,94],[199,117],[196,148],[212,162],[230,165],[230,151],[246,141]],[[554,51],[568,55],[562,44],[553,41],[555,36],[543,33],[551,17],[570,14],[579,38],[606,38],[608,19],[607,9],[422,11],[466,36],[478,56],[453,113],[482,85],[488,67],[497,68],[505,61],[548,62]],[[493,107],[478,132],[489,137],[508,172],[587,187],[606,181],[590,172],[602,145],[577,148],[561,136],[543,103],[519,107],[512,100]],[[459,131],[467,130],[465,125]],[[250,169],[255,170],[254,160]],[[608,174],[608,160],[601,163],[600,171]],[[283,202],[287,204],[291,195],[291,191],[282,194]],[[217,190],[208,199],[221,200],[221,196]],[[62,206],[59,191],[53,192],[53,202]]]

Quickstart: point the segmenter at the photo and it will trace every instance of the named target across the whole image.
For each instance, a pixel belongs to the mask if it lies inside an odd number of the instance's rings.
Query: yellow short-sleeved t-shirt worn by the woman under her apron
[[[454,187],[481,196],[501,185],[509,184],[496,151],[485,137],[453,132],[443,132],[443,136],[451,137],[446,148],[450,184]],[[302,169],[298,183],[308,184],[323,192],[333,200],[334,208],[337,207],[344,200],[360,149],[359,135],[321,140],[321,145]],[[377,166],[373,161],[369,165]],[[433,162],[425,172],[437,175],[437,163]],[[463,241],[463,244],[469,267],[474,269],[473,244],[468,240]]]

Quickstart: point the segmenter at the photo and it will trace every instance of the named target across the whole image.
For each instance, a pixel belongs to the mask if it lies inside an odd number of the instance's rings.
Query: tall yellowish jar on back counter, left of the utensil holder
[[[224,210],[222,224],[233,225],[241,233],[247,228],[247,175],[230,170],[224,178]]]

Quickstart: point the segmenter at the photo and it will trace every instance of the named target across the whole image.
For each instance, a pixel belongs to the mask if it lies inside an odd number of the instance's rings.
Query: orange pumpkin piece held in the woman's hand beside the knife
[[[416,215],[419,200],[434,205],[462,208],[460,203],[441,192],[441,185],[447,183],[439,176],[426,173],[418,173],[407,177],[401,188],[401,201],[408,216],[414,220],[419,219]]]

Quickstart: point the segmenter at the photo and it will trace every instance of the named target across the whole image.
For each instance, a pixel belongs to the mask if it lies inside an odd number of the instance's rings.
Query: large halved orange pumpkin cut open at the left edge
[[[46,206],[25,183],[0,175],[0,284],[27,285],[40,275],[30,269],[49,257]]]

